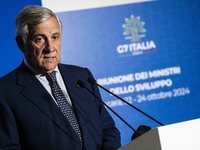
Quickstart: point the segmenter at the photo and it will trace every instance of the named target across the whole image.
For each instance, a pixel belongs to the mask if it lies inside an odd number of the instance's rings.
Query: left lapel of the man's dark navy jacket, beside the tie
[[[66,123],[66,118],[55,104],[51,95],[29,70],[23,69],[23,71],[18,72],[17,83],[24,86],[22,94],[27,100],[40,109],[40,111],[63,130],[63,132],[77,143],[81,144],[81,142],[77,140],[78,136],[72,131],[72,127]]]

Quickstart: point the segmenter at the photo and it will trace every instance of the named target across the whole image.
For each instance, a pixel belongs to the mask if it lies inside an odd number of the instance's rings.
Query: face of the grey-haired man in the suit
[[[60,62],[61,31],[52,17],[29,30],[24,55],[28,63],[40,73],[52,72]]]

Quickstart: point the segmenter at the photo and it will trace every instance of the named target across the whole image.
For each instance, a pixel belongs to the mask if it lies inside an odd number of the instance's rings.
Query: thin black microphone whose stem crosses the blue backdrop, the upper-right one
[[[112,94],[113,96],[117,97],[118,99],[120,99],[121,101],[123,101],[124,103],[126,103],[127,105],[131,106],[132,108],[136,109],[137,111],[139,111],[140,113],[142,113],[143,115],[147,116],[148,118],[150,118],[151,120],[155,121],[156,123],[158,123],[159,125],[163,126],[164,124],[159,122],[158,120],[156,120],[155,118],[153,118],[152,116],[148,115],[147,113],[145,113],[144,111],[140,110],[139,108],[135,107],[134,105],[131,105],[130,103],[128,103],[127,101],[125,101],[124,99],[122,99],[121,97],[117,96],[116,94],[114,94],[113,92],[109,91],[108,89],[104,88],[103,86],[101,86],[100,84],[98,84],[96,82],[96,80],[94,80],[93,78],[88,78],[88,82],[92,85],[97,85],[100,88],[102,88],[103,90],[107,91],[108,93]]]

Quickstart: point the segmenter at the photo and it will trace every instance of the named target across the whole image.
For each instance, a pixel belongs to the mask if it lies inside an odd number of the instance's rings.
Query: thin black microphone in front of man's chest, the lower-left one
[[[136,134],[134,136],[138,137],[140,136],[140,134],[138,133],[137,130],[135,130],[129,123],[127,123],[120,115],[118,115],[113,109],[111,109],[106,103],[103,102],[102,99],[100,99],[96,94],[94,94],[93,91],[91,91],[89,88],[87,88],[87,86],[85,85],[85,83],[82,80],[78,80],[77,81],[77,87],[81,87],[81,88],[85,88],[90,94],[92,94],[94,97],[96,97],[104,106],[106,106],[110,111],[112,111],[121,121],[123,121],[129,128],[131,128]],[[132,135],[133,136],[133,135]]]

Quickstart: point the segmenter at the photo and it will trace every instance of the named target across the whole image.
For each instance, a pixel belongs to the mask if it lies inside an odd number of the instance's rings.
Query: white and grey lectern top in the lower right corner
[[[152,129],[119,150],[200,150],[200,119]]]

